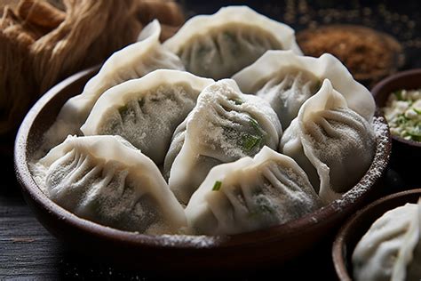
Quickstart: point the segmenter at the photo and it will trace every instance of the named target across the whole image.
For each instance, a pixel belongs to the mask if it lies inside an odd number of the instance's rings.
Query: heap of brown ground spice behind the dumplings
[[[371,86],[399,69],[404,62],[401,44],[393,36],[356,25],[327,25],[298,33],[298,44],[309,56],[330,52],[354,78]]]

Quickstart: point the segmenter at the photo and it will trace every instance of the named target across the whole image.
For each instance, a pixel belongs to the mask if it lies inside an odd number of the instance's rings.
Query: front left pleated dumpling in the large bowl
[[[68,136],[33,171],[52,201],[84,219],[146,234],[187,226],[154,162],[119,136]]]

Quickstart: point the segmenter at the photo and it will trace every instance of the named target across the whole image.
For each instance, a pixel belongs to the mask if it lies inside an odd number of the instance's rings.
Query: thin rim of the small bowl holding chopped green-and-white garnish
[[[397,72],[397,73],[395,73],[391,76],[387,76],[384,79],[380,80],[371,89],[371,94],[373,95],[374,99],[376,100],[376,98],[379,96],[379,92],[381,92],[381,90],[385,87],[385,85],[391,84],[395,80],[403,79],[406,76],[420,76],[420,78],[421,78],[421,68],[413,68],[413,69],[409,69],[409,70],[405,70],[405,71],[400,71],[400,72]],[[419,88],[421,89],[421,84],[420,84]],[[387,96],[389,96],[391,93],[392,92],[389,92],[387,94]],[[376,102],[376,106],[377,106],[377,102]],[[377,106],[377,108],[379,110],[381,110],[381,108],[379,108],[378,106]],[[415,146],[415,147],[421,148],[421,141],[405,140],[405,139],[401,138],[400,136],[395,136],[393,134],[391,134],[391,137],[394,141],[398,141],[398,142],[407,144],[409,146]]]

